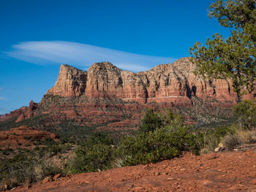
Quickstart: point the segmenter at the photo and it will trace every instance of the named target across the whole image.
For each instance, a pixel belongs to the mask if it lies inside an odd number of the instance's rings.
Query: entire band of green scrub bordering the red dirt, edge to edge
[[[113,142],[113,134],[91,130],[83,135],[83,140],[74,137],[77,146],[67,144],[65,139],[61,141],[62,144],[53,139],[45,139],[34,141],[37,147],[32,151],[1,150],[0,153],[5,156],[17,153],[18,155],[1,159],[4,163],[1,164],[0,187],[13,188],[16,185],[34,183],[56,173],[98,172],[117,166],[155,163],[179,156],[184,151],[195,154],[209,153],[214,151],[219,142],[222,142],[227,150],[233,150],[239,144],[256,142],[256,131],[252,126],[255,109],[253,104],[243,101],[234,107],[234,113],[238,115],[239,120],[245,122],[241,127],[236,124],[216,128],[187,126],[181,115],[170,110],[148,110],[138,131],[124,136],[119,142]],[[243,117],[241,114],[247,115]],[[64,132],[73,125],[74,122],[66,121],[66,124],[62,125],[67,126]],[[78,130],[77,128],[74,131]],[[79,133],[81,132],[78,131],[77,134]],[[59,166],[50,161],[53,156],[61,156],[71,150],[75,151],[75,156],[69,161],[62,161]]]

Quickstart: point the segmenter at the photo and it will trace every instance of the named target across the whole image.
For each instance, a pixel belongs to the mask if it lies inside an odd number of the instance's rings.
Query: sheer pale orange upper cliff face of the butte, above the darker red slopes
[[[57,96],[81,96],[96,98],[118,98],[124,101],[173,102],[190,106],[191,96],[218,101],[236,101],[229,80],[208,82],[196,77],[189,58],[181,58],[173,64],[155,66],[147,72],[127,72],[109,62],[96,63],[88,72],[62,65],[56,84],[48,94]],[[246,96],[254,99],[254,93]]]

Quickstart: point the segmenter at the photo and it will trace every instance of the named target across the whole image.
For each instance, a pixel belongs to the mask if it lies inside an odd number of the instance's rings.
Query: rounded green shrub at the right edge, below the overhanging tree
[[[244,100],[233,107],[241,128],[252,130],[256,127],[256,101]]]

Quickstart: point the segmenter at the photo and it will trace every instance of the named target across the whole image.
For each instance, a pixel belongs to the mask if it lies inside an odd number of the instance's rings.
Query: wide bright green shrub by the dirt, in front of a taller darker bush
[[[155,163],[176,157],[184,150],[198,153],[197,139],[197,135],[188,126],[177,129],[166,126],[137,137],[126,137],[121,141],[118,153],[125,157],[123,164],[126,166]]]

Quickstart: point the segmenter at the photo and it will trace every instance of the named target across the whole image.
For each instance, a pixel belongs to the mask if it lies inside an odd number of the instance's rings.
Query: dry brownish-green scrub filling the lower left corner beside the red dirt
[[[37,141],[33,150],[7,148],[0,150],[0,190],[43,180],[63,173],[62,165],[53,162],[53,156],[68,153],[72,145],[61,144],[53,139]],[[60,161],[64,159],[60,158]]]

